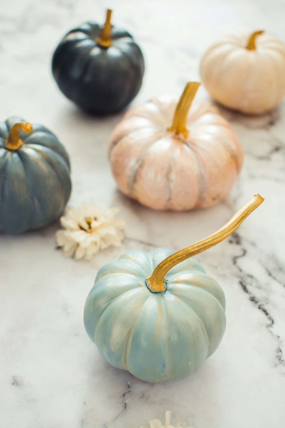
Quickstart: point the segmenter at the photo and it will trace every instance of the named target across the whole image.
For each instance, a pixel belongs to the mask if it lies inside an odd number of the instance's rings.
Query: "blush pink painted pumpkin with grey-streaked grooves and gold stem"
[[[118,187],[147,207],[209,207],[238,177],[241,144],[214,107],[191,104],[199,84],[188,83],[178,104],[160,97],[133,107],[112,133],[109,160]]]

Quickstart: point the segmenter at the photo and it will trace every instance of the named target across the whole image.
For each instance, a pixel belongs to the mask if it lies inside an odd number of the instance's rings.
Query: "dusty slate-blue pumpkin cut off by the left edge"
[[[70,193],[69,158],[56,136],[19,117],[0,122],[0,231],[46,226]]]

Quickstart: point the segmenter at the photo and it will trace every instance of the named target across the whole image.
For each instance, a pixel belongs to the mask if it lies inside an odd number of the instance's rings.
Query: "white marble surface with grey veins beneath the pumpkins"
[[[153,212],[116,190],[106,158],[123,113],[96,119],[76,109],[50,71],[64,33],[88,18],[113,20],[144,51],[137,104],[197,80],[199,58],[217,36],[265,28],[285,42],[285,3],[274,0],[1,0],[0,118],[24,116],[52,129],[71,155],[69,206],[118,206],[121,248],[91,262],[56,250],[56,222],[39,232],[0,235],[0,427],[140,427],[164,419],[195,428],[282,428],[285,420],[285,106],[246,117],[220,108],[244,146],[240,178],[214,208]],[[199,89],[198,98],[208,99]],[[238,232],[197,256],[226,294],[227,328],[215,354],[182,382],[145,383],[102,360],[82,312],[98,268],[129,249],[178,250],[222,226],[254,193],[265,201]]]

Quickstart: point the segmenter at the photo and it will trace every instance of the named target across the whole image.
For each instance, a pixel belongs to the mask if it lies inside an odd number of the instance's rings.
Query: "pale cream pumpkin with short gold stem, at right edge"
[[[223,36],[201,59],[200,75],[212,98],[225,107],[265,113],[285,95],[285,46],[262,30]]]

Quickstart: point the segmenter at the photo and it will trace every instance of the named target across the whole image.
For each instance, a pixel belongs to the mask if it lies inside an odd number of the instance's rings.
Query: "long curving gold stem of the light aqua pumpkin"
[[[163,260],[159,265],[156,266],[153,273],[147,278],[148,285],[152,291],[164,291],[164,278],[166,273],[173,268],[173,266],[178,265],[178,263],[183,262],[183,260],[188,259],[189,257],[195,256],[196,254],[202,253],[202,251],[208,250],[208,248],[213,247],[223,239],[231,235],[235,229],[247,218],[247,216],[252,213],[262,202],[264,198],[259,194],[254,195],[254,198],[248,202],[244,207],[242,207],[232,218],[225,224],[221,229],[208,238],[202,239],[201,241],[196,242],[196,244],[190,245],[183,250],[177,251],[177,253],[172,254]]]

